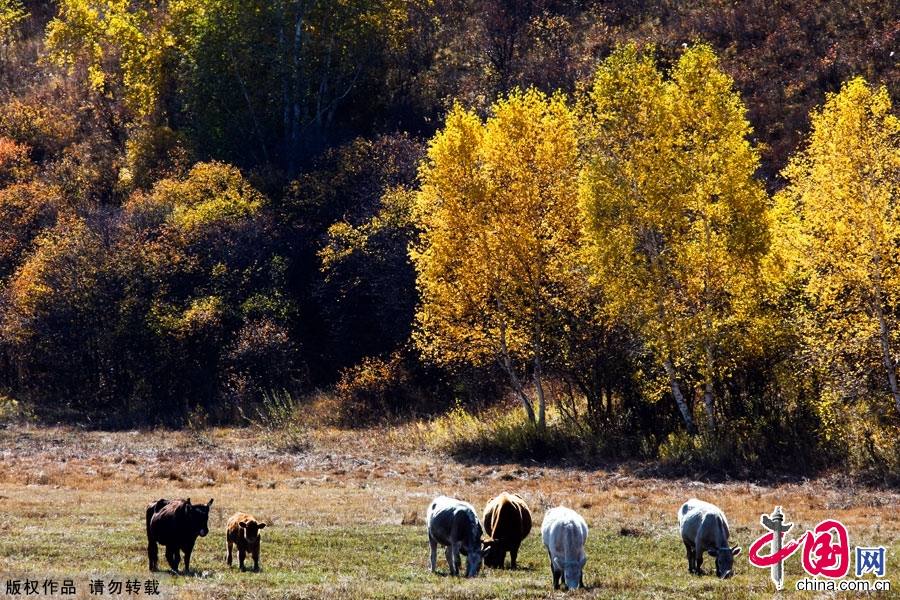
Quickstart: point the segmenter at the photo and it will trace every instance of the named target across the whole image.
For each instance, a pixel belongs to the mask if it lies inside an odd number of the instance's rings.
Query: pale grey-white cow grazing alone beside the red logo
[[[734,575],[734,557],[738,546],[728,546],[728,521],[719,507],[691,498],[678,510],[681,540],[687,550],[688,572],[702,575],[703,553],[716,557],[716,575],[727,579]]]

